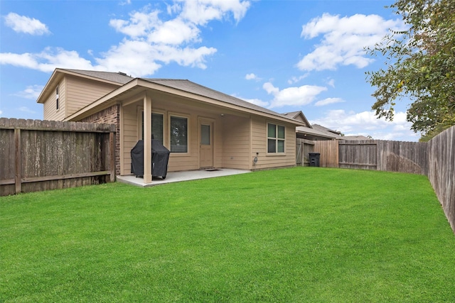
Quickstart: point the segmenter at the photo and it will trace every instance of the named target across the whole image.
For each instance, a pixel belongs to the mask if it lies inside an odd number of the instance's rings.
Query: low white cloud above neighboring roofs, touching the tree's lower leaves
[[[355,113],[343,109],[328,111],[325,116],[310,121],[331,129],[336,129],[346,136],[372,136],[378,140],[418,141],[419,135],[411,131],[412,123],[406,121],[405,112],[395,113],[393,121],[376,118],[373,111]]]

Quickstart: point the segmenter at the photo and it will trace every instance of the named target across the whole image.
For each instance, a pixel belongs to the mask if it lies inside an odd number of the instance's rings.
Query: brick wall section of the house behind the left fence
[[[115,125],[115,175],[120,175],[120,105],[115,104],[107,109],[98,111],[80,122],[109,123]]]

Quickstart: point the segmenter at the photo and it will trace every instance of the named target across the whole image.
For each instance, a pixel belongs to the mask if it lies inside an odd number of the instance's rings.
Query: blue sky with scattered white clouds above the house
[[[346,135],[418,141],[406,101],[371,111],[365,72],[400,16],[393,1],[0,1],[0,116],[43,119],[55,68],[189,79]]]

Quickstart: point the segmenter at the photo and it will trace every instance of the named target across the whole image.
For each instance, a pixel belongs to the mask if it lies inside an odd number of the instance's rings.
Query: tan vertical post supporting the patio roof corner
[[[151,183],[151,97],[144,94],[144,183]]]

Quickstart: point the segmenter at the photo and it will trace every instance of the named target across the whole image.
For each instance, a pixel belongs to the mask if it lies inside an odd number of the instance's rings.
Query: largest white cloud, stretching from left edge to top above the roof
[[[135,77],[153,75],[164,64],[206,68],[206,58],[216,53],[215,48],[196,47],[200,43],[200,27],[212,20],[222,20],[231,14],[235,21],[245,16],[250,2],[241,0],[178,1],[167,6],[168,15],[160,18],[161,11],[144,6],[133,11],[129,18],[112,19],[109,26],[125,35],[117,45],[87,60],[75,51],[62,48],[45,48],[41,53],[0,53],[1,65],[52,72],[56,67],[80,70],[122,70]],[[200,14],[194,14],[196,9]],[[166,19],[167,18],[167,19]]]

